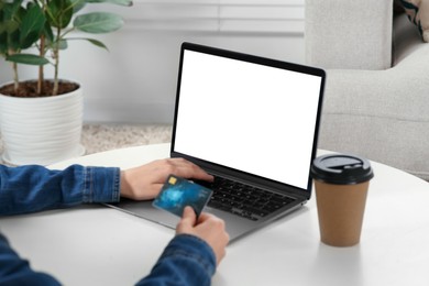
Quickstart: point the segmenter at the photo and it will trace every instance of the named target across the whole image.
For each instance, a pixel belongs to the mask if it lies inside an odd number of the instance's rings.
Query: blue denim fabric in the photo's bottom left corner
[[[0,234],[0,285],[54,286],[61,284],[45,273],[32,271],[29,262],[22,260]]]

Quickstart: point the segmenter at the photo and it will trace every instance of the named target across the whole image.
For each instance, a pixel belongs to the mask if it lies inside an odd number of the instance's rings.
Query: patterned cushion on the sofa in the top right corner
[[[424,41],[429,42],[429,0],[400,0],[400,3]]]

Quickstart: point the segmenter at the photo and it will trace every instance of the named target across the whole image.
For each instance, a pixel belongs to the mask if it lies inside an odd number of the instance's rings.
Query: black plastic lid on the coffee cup
[[[348,154],[329,154],[315,158],[311,164],[314,179],[336,185],[354,185],[374,177],[370,162]]]

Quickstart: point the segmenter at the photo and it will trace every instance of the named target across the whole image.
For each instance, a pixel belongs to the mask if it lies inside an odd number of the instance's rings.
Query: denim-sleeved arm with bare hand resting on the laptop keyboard
[[[64,170],[28,165],[0,165],[0,216],[21,215],[91,202],[118,202],[120,197],[153,199],[168,177],[212,180],[183,158],[158,160],[120,172],[117,167],[72,165]]]

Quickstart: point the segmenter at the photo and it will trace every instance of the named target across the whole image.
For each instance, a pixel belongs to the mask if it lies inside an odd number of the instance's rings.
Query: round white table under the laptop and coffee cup
[[[72,163],[128,168],[167,157],[168,144],[105,152]],[[361,243],[320,243],[315,198],[301,210],[228,246],[213,285],[429,285],[429,184],[372,162]],[[12,245],[65,285],[132,285],[174,231],[121,211],[86,206],[0,219]]]

